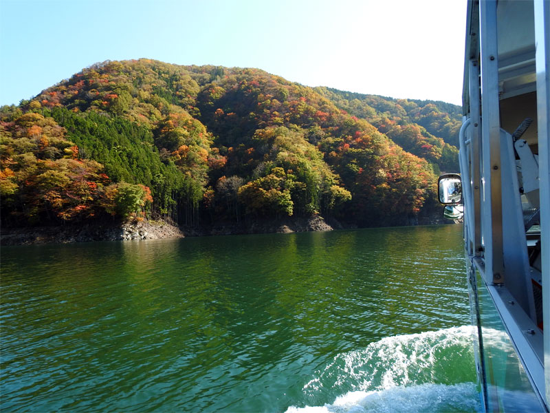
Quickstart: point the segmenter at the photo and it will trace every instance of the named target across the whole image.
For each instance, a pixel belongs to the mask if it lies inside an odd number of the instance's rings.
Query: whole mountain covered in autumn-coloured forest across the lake
[[[107,61],[1,107],[1,220],[402,224],[456,171],[459,124],[454,105],[256,69]]]

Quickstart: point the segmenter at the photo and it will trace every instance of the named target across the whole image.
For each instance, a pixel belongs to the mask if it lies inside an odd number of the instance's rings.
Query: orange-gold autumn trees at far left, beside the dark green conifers
[[[113,184],[102,165],[80,159],[53,118],[27,113],[0,127],[0,196],[8,224],[80,222],[105,213],[126,218],[152,202],[147,187]],[[132,190],[134,197],[124,198]]]

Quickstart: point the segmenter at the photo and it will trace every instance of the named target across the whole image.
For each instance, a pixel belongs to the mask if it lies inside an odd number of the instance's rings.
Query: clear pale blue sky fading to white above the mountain
[[[0,0],[0,105],[105,60],[461,104],[465,0]]]

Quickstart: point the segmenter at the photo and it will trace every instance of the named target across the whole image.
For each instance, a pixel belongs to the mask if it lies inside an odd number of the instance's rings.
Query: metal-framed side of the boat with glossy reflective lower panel
[[[549,0],[467,3],[461,202],[489,412],[550,406],[549,16]]]

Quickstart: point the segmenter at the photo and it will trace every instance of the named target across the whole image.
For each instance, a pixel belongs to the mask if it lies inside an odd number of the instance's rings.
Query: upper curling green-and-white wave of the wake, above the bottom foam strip
[[[456,383],[457,365],[467,365],[470,360],[474,372],[473,332],[472,326],[462,326],[386,337],[363,350],[338,354],[304,390],[342,385],[347,390],[369,391],[396,385]],[[449,371],[450,367],[454,370]]]

